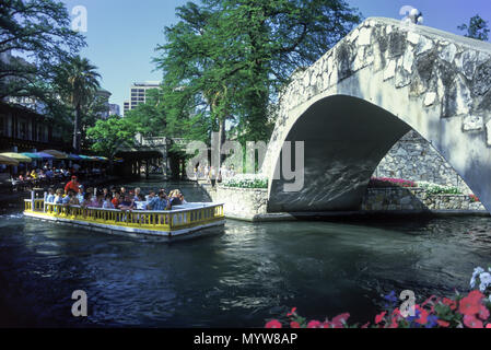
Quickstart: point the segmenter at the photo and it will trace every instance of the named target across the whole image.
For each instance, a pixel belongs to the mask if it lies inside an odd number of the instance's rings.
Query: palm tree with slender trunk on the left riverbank
[[[95,71],[97,67],[91,65],[86,58],[74,56],[60,70],[61,95],[74,109],[73,149],[75,152],[80,151],[82,108],[91,102],[100,88],[101,74]]]

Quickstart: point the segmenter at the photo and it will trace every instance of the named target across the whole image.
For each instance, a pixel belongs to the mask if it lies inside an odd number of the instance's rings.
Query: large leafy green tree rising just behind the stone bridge
[[[243,141],[269,139],[269,106],[291,73],[361,20],[343,0],[202,0],[177,8],[177,16],[154,59],[168,119],[204,120],[221,140],[230,120]]]

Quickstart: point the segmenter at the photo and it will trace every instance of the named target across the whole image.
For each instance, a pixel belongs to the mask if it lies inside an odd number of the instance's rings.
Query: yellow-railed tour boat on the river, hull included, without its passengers
[[[44,199],[24,200],[24,215],[71,224],[93,231],[156,236],[163,241],[197,237],[223,229],[223,203],[194,202],[172,210],[118,210],[47,203]]]

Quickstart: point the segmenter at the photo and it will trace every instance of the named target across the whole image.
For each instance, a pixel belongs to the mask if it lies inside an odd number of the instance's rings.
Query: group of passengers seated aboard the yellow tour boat
[[[171,210],[173,206],[187,203],[183,194],[178,189],[172,190],[168,195],[164,188],[157,194],[151,190],[144,196],[140,188],[127,190],[126,187],[117,188],[115,186],[96,190],[92,187],[84,188],[72,176],[63,188],[55,190],[50,188],[46,198],[47,203],[81,206],[83,208],[103,208],[119,210]]]

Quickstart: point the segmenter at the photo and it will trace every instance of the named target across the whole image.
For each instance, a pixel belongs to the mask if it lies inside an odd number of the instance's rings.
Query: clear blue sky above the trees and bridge
[[[87,10],[87,57],[103,77],[102,86],[113,93],[112,103],[120,105],[129,97],[136,81],[161,80],[151,58],[157,44],[164,43],[163,30],[175,23],[175,8],[187,0],[65,0],[69,10]],[[491,0],[348,0],[367,16],[400,19],[399,10],[412,5],[423,12],[424,25],[460,34],[457,25],[479,13],[491,24]]]

